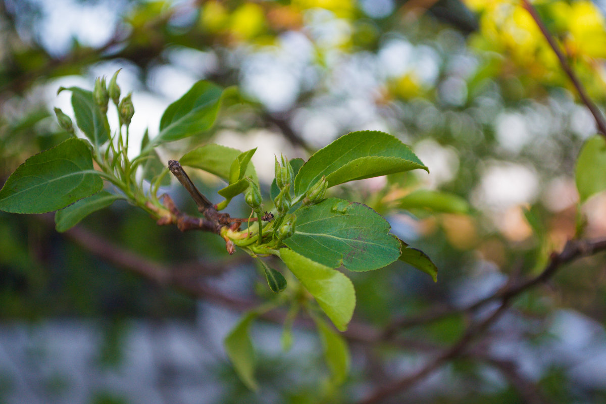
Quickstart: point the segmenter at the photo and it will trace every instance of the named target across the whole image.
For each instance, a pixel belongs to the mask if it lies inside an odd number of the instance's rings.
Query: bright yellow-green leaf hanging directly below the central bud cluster
[[[345,274],[293,250],[281,248],[279,251],[282,261],[311,296],[315,297],[336,328],[345,331],[356,307],[356,291],[351,280]]]

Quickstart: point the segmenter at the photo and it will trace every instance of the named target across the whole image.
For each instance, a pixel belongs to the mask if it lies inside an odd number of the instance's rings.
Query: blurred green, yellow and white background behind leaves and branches
[[[534,5],[604,105],[605,2]],[[307,158],[367,129],[410,145],[430,174],[332,193],[387,217],[394,234],[438,265],[438,283],[401,262],[351,274],[359,322],[380,328],[461,308],[509,276],[538,274],[579,216],[584,236],[606,234],[606,196],[578,206],[574,187],[593,118],[518,1],[4,0],[0,36],[2,183],[68,137],[52,114],[71,111],[60,86],[92,88],[119,68],[122,91],[133,90],[135,149],[195,81],[237,85],[242,102],[224,108],[212,130],[159,153],[178,158],[207,142],[259,147],[253,162],[265,193],[274,154]],[[218,202],[218,179],[191,176]],[[417,189],[447,191],[470,210],[398,206]],[[195,211],[178,184],[164,191]],[[230,213],[247,217],[237,202]],[[87,217],[78,231],[176,273],[198,271],[226,296],[268,294],[258,268],[244,254],[228,256],[219,237],[159,227],[127,204]],[[405,329],[397,348],[351,343],[351,375],[331,395],[318,387],[327,371],[313,332],[297,327],[284,353],[281,326],[261,323],[253,342],[262,387],[250,392],[222,351],[239,316],[233,305],[141,279],[82,247],[78,234],[57,233],[52,216],[0,213],[0,402],[356,402],[418,369],[474,318],[455,313]],[[470,353],[387,402],[606,402],[605,279],[603,254],[568,265],[522,294]]]

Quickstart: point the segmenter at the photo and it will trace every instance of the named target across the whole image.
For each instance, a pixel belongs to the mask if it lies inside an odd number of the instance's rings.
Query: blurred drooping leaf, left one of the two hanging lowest
[[[248,335],[250,324],[256,318],[254,312],[247,313],[242,319],[231,329],[230,333],[225,337],[223,342],[225,352],[233,363],[236,373],[240,380],[251,390],[256,390],[258,384],[255,380],[255,349]]]

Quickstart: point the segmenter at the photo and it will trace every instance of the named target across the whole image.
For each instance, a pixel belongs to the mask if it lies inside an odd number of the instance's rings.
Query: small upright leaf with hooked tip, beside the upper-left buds
[[[72,91],[72,108],[76,124],[93,145],[99,146],[109,139],[107,119],[95,104],[93,93],[79,87],[60,88],[59,91]]]

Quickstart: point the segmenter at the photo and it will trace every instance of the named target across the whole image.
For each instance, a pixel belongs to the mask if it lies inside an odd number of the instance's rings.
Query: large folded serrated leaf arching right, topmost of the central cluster
[[[380,131],[351,132],[316,151],[295,178],[301,195],[326,176],[328,187],[356,179],[427,167],[396,137]]]

